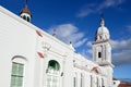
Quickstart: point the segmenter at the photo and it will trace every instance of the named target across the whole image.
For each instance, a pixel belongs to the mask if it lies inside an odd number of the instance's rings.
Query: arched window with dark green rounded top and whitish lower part
[[[47,87],[59,87],[59,71],[60,65],[57,61],[51,60],[48,62]]]

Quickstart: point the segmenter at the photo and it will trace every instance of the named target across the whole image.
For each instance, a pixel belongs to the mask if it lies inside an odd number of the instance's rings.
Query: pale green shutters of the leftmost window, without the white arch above
[[[24,64],[12,62],[11,87],[23,87]]]

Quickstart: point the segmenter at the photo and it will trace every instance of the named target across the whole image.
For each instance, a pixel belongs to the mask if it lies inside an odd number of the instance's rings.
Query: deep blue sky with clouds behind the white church
[[[0,0],[0,4],[19,15],[24,0]],[[110,32],[114,76],[131,78],[131,0],[28,0],[32,23],[69,44],[76,52],[92,59],[92,41],[104,13]]]

